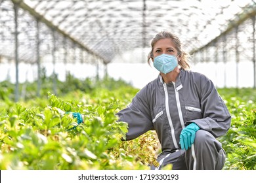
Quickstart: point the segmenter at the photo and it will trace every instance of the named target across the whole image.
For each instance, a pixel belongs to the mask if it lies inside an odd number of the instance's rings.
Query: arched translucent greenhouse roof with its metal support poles
[[[151,39],[168,30],[195,62],[235,63],[236,86],[239,63],[249,60],[256,88],[255,17],[256,0],[0,0],[0,63],[15,62],[18,100],[21,62],[37,65],[39,93],[43,62],[90,63],[98,76],[102,63],[107,73],[116,60],[146,62]]]

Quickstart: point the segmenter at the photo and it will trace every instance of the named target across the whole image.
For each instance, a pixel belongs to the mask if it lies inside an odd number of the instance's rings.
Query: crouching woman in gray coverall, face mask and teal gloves
[[[117,113],[127,122],[126,140],[156,130],[161,143],[161,169],[222,169],[225,152],[217,137],[228,131],[231,116],[213,82],[200,73],[188,71],[189,55],[179,38],[162,31],[152,39],[148,61],[160,71]]]

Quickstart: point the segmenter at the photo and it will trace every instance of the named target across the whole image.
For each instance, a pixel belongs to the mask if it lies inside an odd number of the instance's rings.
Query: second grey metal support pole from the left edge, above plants
[[[41,61],[40,61],[40,39],[39,39],[39,20],[37,20],[37,34],[36,34],[36,41],[37,41],[37,97],[40,97],[41,91]]]

